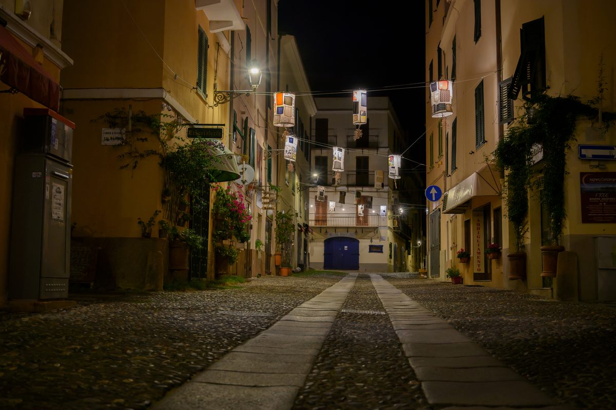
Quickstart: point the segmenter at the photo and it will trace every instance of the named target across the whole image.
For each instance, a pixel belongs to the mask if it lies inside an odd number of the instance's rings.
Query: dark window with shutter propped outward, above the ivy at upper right
[[[509,87],[509,98],[515,100],[520,90],[522,97],[546,89],[545,27],[543,17],[524,23],[520,31],[520,59]]]

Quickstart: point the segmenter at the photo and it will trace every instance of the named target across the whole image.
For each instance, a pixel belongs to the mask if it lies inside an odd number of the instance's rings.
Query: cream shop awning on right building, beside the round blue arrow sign
[[[445,192],[443,195],[443,213],[464,213],[471,208],[468,203],[474,197],[499,197],[501,187],[499,176],[490,165]]]

